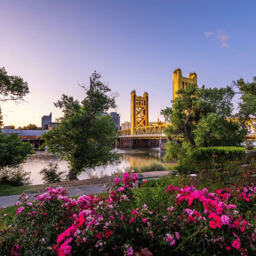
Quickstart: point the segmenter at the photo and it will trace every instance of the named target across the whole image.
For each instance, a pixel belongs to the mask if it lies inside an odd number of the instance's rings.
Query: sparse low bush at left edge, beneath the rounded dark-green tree
[[[11,186],[27,186],[32,184],[31,172],[24,170],[22,165],[4,167],[0,170],[0,183]]]

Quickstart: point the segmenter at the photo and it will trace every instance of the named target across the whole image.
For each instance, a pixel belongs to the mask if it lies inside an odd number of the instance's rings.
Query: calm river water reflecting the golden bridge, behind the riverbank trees
[[[102,167],[93,169],[87,169],[86,172],[82,172],[78,176],[79,180],[85,180],[90,178],[90,175],[97,174],[98,177],[103,176],[104,174],[111,175],[117,169],[124,171],[124,168],[130,166],[144,166],[149,165],[152,161],[162,162],[162,153],[160,153],[159,148],[139,148],[139,149],[113,149],[118,150],[120,154],[123,155],[123,160],[119,165],[109,165],[105,169]],[[23,164],[25,171],[30,171],[30,179],[32,185],[43,184],[41,180],[40,170],[48,165],[49,162],[58,163],[61,171],[66,171],[68,173],[68,163],[64,160],[60,160],[59,157],[52,154],[47,154],[43,151],[38,151],[34,155],[31,155],[27,158],[27,161]]]

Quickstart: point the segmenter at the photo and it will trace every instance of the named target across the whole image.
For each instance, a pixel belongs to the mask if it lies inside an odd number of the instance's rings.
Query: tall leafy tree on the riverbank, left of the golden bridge
[[[102,113],[115,108],[117,93],[111,93],[108,84],[101,82],[96,71],[90,77],[86,97],[81,103],[63,94],[61,101],[54,103],[64,116],[59,118],[59,127],[53,127],[43,135],[48,151],[59,154],[70,165],[69,179],[77,179],[85,168],[106,166],[120,160],[116,152],[110,152],[115,124],[110,116]]]

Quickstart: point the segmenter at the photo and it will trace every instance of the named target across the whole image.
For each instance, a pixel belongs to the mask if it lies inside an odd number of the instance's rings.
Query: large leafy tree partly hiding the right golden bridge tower
[[[207,89],[192,84],[177,95],[173,107],[161,114],[170,122],[165,129],[169,141],[183,138],[182,147],[168,142],[165,160],[184,157],[195,147],[238,146],[243,141],[247,131],[230,119],[234,109],[231,87]]]

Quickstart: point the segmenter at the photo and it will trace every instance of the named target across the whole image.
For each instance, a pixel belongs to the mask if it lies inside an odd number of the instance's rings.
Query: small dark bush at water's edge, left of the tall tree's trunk
[[[49,162],[47,167],[42,168],[39,174],[42,176],[44,183],[61,182],[66,176],[66,172],[60,171],[58,163],[53,162]]]

